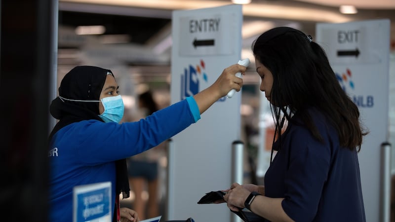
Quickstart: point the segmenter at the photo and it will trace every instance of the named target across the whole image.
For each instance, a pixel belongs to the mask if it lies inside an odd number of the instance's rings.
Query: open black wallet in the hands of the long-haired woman
[[[224,199],[225,192],[218,190],[218,191],[211,191],[206,193],[200,200],[197,202],[198,204],[212,204],[217,200]],[[257,214],[252,213],[247,209],[239,208],[239,211],[231,211],[236,214],[241,220],[244,222],[266,222],[267,220]]]

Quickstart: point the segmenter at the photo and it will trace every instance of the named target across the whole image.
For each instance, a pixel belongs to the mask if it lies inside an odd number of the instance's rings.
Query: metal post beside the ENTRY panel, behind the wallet
[[[243,148],[241,141],[232,143],[232,183],[243,184]],[[231,222],[242,222],[236,214],[231,215]]]

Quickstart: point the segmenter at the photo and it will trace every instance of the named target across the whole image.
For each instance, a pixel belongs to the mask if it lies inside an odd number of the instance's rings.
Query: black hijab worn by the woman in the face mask
[[[94,66],[77,66],[63,77],[59,87],[59,96],[71,100],[99,101],[107,74],[114,76],[111,70]],[[88,119],[104,122],[99,117],[98,102],[74,102],[62,100],[60,97],[52,100],[49,107],[51,115],[59,119],[49,135],[49,141],[58,130],[71,123]],[[128,198],[130,188],[126,159],[116,161],[116,170],[117,195],[122,192],[123,198]]]

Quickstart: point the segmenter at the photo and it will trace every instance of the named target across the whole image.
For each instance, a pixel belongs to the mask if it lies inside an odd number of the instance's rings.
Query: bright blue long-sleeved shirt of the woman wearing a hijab
[[[116,160],[157,146],[199,118],[196,101],[189,97],[137,122],[83,120],[60,129],[48,148],[49,221],[73,221],[74,186],[110,181],[115,194]]]

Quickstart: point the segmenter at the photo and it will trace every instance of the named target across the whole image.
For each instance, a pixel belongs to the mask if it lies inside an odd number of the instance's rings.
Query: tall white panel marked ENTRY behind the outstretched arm
[[[207,88],[240,60],[242,6],[178,10],[172,16],[171,103]],[[229,222],[226,204],[197,204],[232,183],[232,144],[240,140],[240,92],[222,98],[174,136],[169,150],[168,220]]]

